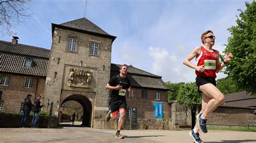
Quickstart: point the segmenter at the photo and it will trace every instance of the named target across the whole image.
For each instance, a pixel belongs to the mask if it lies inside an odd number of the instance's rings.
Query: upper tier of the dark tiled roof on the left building
[[[50,56],[50,50],[48,49],[23,44],[11,44],[11,42],[2,40],[0,40],[0,51],[39,58],[49,58]]]

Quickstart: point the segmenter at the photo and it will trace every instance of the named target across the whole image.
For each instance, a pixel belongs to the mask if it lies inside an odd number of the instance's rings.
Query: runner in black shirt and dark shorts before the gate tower
[[[106,115],[106,121],[109,121],[110,118],[116,120],[118,118],[118,111],[120,113],[120,118],[118,120],[118,127],[116,138],[124,139],[124,136],[120,134],[120,130],[124,124],[125,114],[126,114],[126,100],[125,93],[128,91],[132,92],[131,82],[126,77],[128,66],[126,64],[120,66],[120,74],[113,76],[109,83],[107,83],[106,88],[112,90],[110,96],[110,111]]]

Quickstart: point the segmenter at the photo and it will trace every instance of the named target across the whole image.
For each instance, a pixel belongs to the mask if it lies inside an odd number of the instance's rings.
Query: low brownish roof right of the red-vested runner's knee
[[[253,97],[251,93],[246,93],[246,91],[226,94],[223,105],[238,107],[256,107],[256,97]]]

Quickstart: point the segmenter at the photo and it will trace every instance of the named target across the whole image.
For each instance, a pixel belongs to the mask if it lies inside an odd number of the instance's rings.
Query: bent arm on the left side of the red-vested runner
[[[204,72],[205,70],[204,65],[196,66],[190,62],[194,57],[200,54],[200,51],[201,51],[201,47],[200,46],[196,47],[192,51],[192,53],[185,58],[185,60],[183,61],[183,64],[188,67],[191,67],[192,69],[196,69],[199,72]]]

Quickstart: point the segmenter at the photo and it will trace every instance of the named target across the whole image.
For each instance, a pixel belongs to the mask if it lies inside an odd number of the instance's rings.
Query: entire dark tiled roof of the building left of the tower
[[[50,50],[0,41],[0,52],[0,72],[46,77]],[[27,57],[33,59],[32,67],[24,66]]]

